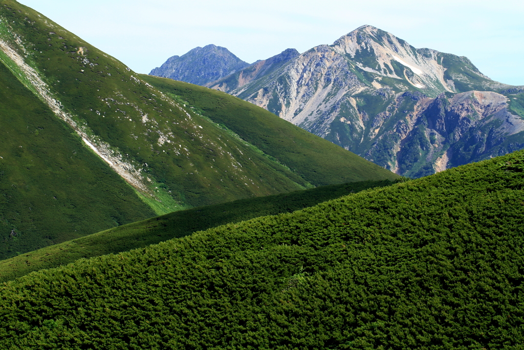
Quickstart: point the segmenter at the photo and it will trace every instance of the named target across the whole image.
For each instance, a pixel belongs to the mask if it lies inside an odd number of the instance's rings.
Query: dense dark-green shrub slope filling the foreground
[[[4,348],[524,344],[524,152],[1,287]]]

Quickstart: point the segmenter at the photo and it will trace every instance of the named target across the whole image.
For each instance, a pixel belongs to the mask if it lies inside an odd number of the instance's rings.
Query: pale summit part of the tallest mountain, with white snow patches
[[[351,60],[355,68],[372,73],[366,75],[375,88],[383,86],[384,78],[392,78],[400,90],[418,89],[436,97],[445,91],[479,88],[489,80],[466,57],[427,48],[417,49],[407,41],[369,25],[342,36],[331,48]],[[455,67],[456,72],[453,72]],[[458,86],[456,80],[460,83]],[[474,87],[472,82],[477,85]]]

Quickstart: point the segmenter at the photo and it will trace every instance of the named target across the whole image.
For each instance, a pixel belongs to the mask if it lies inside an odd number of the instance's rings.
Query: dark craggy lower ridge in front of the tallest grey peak
[[[382,97],[384,111],[363,121],[366,130],[359,134],[369,143],[353,148],[398,174],[430,175],[524,148],[524,120],[510,112],[502,94],[468,91],[428,98],[407,91]],[[333,123],[326,138],[337,137],[335,130],[344,124],[350,119]]]

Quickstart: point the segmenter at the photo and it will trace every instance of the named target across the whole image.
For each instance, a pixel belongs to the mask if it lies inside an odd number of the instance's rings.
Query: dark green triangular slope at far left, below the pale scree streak
[[[0,259],[154,216],[0,62]]]

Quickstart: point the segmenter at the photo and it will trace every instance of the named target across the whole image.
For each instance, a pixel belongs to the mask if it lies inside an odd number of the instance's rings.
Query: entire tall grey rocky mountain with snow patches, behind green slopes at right
[[[524,148],[524,86],[372,26],[203,85],[409,177]]]

